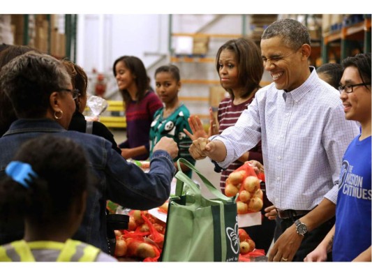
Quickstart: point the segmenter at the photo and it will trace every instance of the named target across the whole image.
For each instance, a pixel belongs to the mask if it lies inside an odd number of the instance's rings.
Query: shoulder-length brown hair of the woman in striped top
[[[249,96],[256,89],[260,89],[260,81],[264,73],[261,51],[258,45],[249,38],[237,38],[224,43],[216,54],[216,70],[219,75],[219,59],[223,50],[234,52],[237,57],[237,68],[239,73],[239,84],[244,88],[241,97]],[[234,99],[231,89],[225,89]]]

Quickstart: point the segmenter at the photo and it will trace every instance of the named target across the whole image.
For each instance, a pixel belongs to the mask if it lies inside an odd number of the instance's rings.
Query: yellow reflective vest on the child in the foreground
[[[36,262],[31,250],[60,250],[56,262],[95,262],[100,249],[81,241],[13,241],[0,246],[0,262]]]

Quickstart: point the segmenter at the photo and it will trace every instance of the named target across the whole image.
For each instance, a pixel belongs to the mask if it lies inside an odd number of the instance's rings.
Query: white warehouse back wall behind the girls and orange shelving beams
[[[243,27],[244,18],[246,26]],[[250,31],[250,15],[172,15],[172,33],[242,34]],[[117,84],[112,75],[114,60],[122,55],[133,55],[142,59],[154,87],[154,71],[158,66],[170,62],[170,50],[174,50],[177,36],[170,41],[170,15],[79,15],[77,30],[77,63],[87,71],[89,90],[93,93],[95,68],[107,77],[106,97],[120,100]],[[214,57],[223,43],[231,38],[210,38],[207,56]],[[169,46],[170,44],[170,46]],[[218,80],[214,63],[177,63],[181,79]],[[264,76],[265,78],[265,76]],[[179,96],[209,97],[211,84],[184,84]],[[208,101],[186,103],[191,114],[208,114]]]

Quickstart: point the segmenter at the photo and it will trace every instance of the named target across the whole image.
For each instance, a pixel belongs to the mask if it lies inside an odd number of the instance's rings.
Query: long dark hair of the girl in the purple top
[[[149,90],[150,85],[146,68],[144,68],[144,63],[136,56],[121,56],[114,61],[114,66],[112,66],[114,77],[117,75],[115,66],[119,62],[123,62],[126,68],[131,71],[132,75],[135,76],[135,84],[137,85],[137,103],[140,103],[140,101],[144,98],[145,93]],[[128,90],[121,90],[120,93],[125,103],[131,101],[131,95],[129,94]]]

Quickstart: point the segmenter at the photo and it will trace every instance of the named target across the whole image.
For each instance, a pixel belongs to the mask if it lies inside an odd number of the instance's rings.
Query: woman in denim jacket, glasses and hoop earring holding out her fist
[[[0,138],[0,177],[21,144],[45,133],[69,137],[82,146],[89,158],[95,183],[87,199],[87,211],[73,239],[107,252],[106,201],[131,209],[152,209],[170,196],[175,169],[172,158],[177,144],[165,137],[154,148],[150,171],[128,163],[102,137],[66,130],[75,112],[76,92],[66,68],[46,54],[28,52],[1,68],[0,87],[8,96],[18,120]],[[51,157],[50,160],[59,160]],[[1,212],[0,244],[22,239],[22,220]]]

